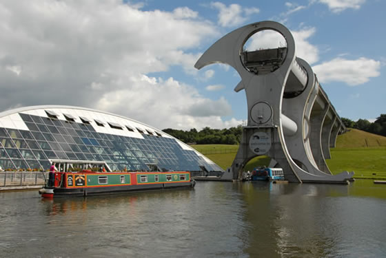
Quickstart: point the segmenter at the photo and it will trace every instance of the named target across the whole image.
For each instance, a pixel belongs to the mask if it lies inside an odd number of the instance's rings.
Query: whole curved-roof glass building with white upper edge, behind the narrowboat
[[[180,140],[141,122],[83,107],[44,105],[0,113],[0,166],[11,170],[219,171]]]

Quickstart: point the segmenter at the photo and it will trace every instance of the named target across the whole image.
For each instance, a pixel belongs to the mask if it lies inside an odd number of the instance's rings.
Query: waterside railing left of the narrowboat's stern
[[[0,172],[0,187],[4,186],[43,186],[49,172],[3,171]]]

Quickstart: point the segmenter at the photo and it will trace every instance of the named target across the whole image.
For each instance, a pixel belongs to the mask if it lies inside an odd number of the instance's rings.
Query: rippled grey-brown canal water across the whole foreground
[[[386,257],[386,185],[372,180],[0,203],[0,257]]]

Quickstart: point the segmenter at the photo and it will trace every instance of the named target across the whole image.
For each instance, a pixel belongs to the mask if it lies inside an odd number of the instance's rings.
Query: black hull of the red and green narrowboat
[[[130,193],[141,191],[161,191],[168,189],[189,189],[193,188],[196,182],[181,182],[173,184],[146,184],[130,186],[99,186],[83,188],[54,188],[53,197],[67,196],[92,196],[92,195],[110,195],[115,193]]]

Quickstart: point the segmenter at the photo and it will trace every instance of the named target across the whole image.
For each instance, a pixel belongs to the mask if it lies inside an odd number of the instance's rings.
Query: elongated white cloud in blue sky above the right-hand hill
[[[369,78],[380,75],[380,61],[368,58],[347,60],[334,58],[332,61],[312,67],[321,83],[340,81],[355,86],[367,83]]]

